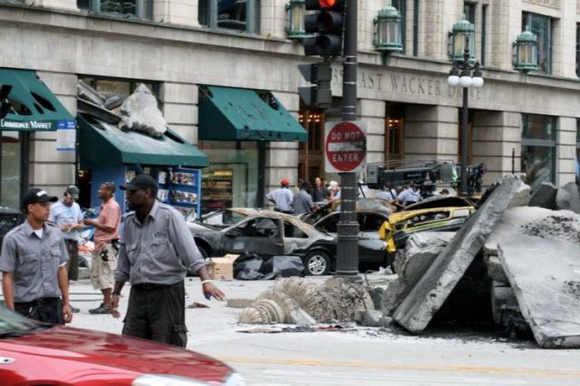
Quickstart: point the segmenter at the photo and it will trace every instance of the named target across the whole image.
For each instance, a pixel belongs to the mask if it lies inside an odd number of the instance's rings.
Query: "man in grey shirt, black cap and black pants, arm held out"
[[[121,236],[111,314],[117,311],[125,282],[131,282],[123,335],[185,347],[185,287],[188,268],[197,272],[203,294],[225,299],[209,280],[206,263],[189,233],[185,219],[173,207],[156,200],[155,179],[140,174],[121,189],[129,208]]]

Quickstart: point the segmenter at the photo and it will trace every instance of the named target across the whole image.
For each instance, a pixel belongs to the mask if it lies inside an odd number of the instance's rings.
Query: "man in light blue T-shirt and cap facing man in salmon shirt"
[[[69,254],[66,262],[69,282],[79,279],[79,229],[82,229],[82,211],[76,200],[79,199],[79,188],[74,185],[66,188],[62,201],[56,202],[51,207],[48,220],[53,222],[63,232],[64,243]],[[71,305],[73,313],[80,310]]]

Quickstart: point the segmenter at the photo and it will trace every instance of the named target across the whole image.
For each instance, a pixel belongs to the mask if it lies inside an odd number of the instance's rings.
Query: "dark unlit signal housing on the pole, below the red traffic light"
[[[331,63],[298,64],[298,70],[306,82],[313,86],[298,87],[298,93],[304,103],[319,109],[328,109],[333,104],[333,93],[330,83],[333,77]]]

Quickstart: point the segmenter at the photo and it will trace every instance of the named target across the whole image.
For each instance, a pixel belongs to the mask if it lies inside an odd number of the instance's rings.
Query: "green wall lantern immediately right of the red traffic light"
[[[375,25],[374,44],[379,52],[401,52],[401,13],[391,5],[379,10],[372,23]]]

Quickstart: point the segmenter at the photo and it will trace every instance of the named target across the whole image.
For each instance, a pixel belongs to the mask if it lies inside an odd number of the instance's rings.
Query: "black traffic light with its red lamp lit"
[[[306,11],[318,11],[304,16],[306,34],[304,54],[332,57],[343,53],[345,0],[306,0]]]

